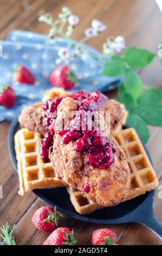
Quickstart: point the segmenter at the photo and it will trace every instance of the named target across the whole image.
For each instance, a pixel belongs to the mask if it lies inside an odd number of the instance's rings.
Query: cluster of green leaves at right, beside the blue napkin
[[[123,76],[119,87],[119,100],[129,112],[127,124],[134,127],[146,143],[148,124],[162,126],[162,90],[146,89],[135,69],[144,68],[156,55],[134,46],[124,51],[123,57],[114,56],[105,63],[102,75]]]

